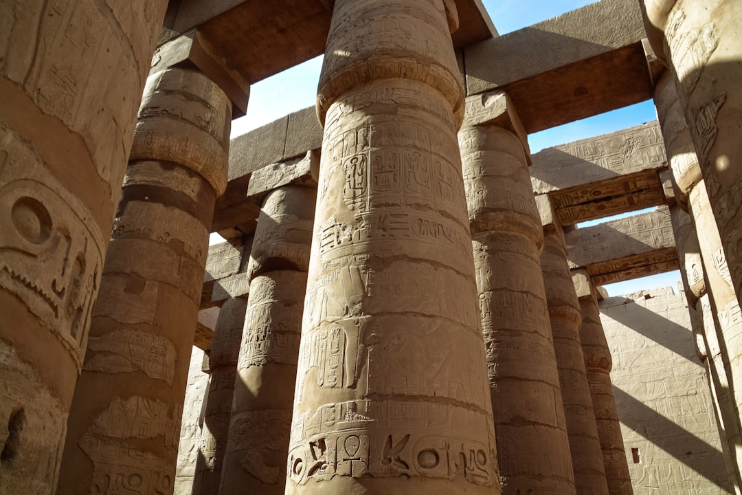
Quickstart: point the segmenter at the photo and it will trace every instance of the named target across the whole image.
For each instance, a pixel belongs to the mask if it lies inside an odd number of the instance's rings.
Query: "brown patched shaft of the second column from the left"
[[[151,74],[93,306],[57,494],[173,490],[232,105],[203,73]]]

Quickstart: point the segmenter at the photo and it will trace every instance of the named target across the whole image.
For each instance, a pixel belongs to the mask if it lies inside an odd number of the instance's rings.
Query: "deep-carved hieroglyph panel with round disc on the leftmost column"
[[[102,275],[103,240],[85,207],[20,137],[0,127],[0,284],[82,365]]]

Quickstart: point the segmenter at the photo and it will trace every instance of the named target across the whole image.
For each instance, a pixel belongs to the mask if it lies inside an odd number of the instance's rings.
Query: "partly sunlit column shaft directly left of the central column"
[[[316,198],[316,188],[280,186],[260,209],[220,495],[283,495]]]

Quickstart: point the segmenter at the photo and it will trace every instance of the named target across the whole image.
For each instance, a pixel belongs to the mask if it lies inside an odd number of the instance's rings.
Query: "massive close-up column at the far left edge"
[[[0,2],[0,493],[50,494],[167,1]]]

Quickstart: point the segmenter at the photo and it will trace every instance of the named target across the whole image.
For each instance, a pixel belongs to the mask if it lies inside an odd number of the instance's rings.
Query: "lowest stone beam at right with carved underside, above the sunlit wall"
[[[670,213],[656,211],[566,232],[570,268],[585,268],[595,285],[677,269]]]

